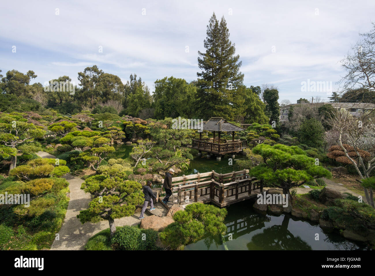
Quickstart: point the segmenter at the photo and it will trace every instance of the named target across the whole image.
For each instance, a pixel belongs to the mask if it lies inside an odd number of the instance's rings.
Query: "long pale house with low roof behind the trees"
[[[302,104],[313,104],[314,106],[323,106],[324,104],[330,104],[335,109],[345,109],[349,110],[350,114],[359,117],[362,112],[375,109],[375,104],[371,103],[302,103]],[[280,108],[280,122],[289,121],[288,115],[290,108],[296,106],[297,104],[288,104]]]

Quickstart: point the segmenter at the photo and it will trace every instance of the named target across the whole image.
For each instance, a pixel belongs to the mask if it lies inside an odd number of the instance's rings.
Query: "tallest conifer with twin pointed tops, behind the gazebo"
[[[239,71],[242,62],[235,56],[234,44],[229,40],[229,30],[224,17],[220,24],[213,13],[207,25],[204,40],[205,53],[198,51],[198,97],[201,116],[222,116],[234,120],[245,115],[243,74]]]

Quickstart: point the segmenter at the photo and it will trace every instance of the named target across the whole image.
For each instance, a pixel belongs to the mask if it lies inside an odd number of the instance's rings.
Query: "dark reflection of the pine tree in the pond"
[[[312,250],[299,236],[288,230],[290,217],[284,216],[281,225],[273,225],[254,235],[247,244],[249,250]]]

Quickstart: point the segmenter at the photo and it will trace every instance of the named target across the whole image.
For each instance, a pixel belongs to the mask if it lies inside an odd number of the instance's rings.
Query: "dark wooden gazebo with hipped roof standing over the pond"
[[[222,117],[211,117],[208,121],[202,123],[202,126],[198,124],[191,128],[213,132],[213,138],[202,139],[202,132],[200,132],[199,140],[193,139],[192,148],[198,149],[199,155],[201,155],[202,152],[207,152],[207,157],[214,154],[217,159],[220,160],[222,155],[231,153],[234,157],[235,152],[240,152],[247,147],[246,140],[241,141],[234,139],[234,133],[244,129],[228,123]],[[221,139],[220,135],[222,132],[231,132],[232,140]],[[216,133],[218,134],[217,137]]]

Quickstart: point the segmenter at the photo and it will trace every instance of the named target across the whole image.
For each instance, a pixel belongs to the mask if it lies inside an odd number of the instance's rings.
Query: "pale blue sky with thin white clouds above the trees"
[[[123,83],[135,73],[151,92],[164,77],[190,82],[215,12],[227,22],[246,86],[273,84],[279,102],[327,100],[345,75],[340,61],[371,30],[374,11],[374,0],[13,0],[1,3],[0,69],[33,70],[31,83],[42,84],[68,75],[79,85],[78,72],[97,65]],[[326,88],[305,89],[314,82]]]

